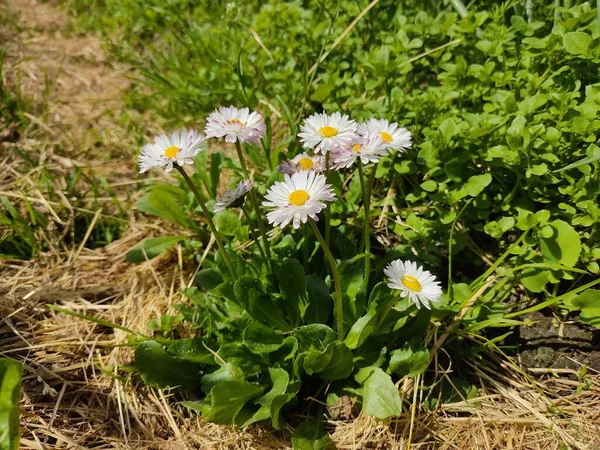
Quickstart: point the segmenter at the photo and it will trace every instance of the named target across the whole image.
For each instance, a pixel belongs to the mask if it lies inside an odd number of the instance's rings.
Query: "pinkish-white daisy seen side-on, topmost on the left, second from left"
[[[235,106],[221,106],[206,119],[207,138],[225,137],[230,144],[235,141],[256,143],[265,134],[265,122],[262,116],[248,108],[237,109]]]

